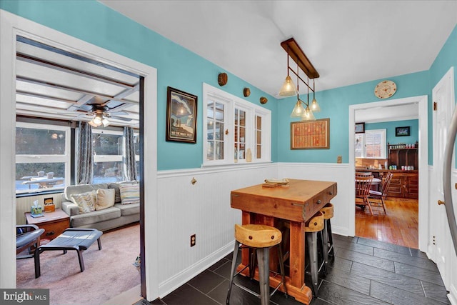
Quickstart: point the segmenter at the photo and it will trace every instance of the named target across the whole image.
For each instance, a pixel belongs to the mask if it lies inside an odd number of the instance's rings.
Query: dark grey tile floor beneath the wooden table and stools
[[[360,237],[334,235],[335,262],[321,279],[319,304],[450,304],[436,265],[416,249]],[[240,257],[240,256],[238,256]],[[164,299],[136,305],[225,304],[229,285],[231,254],[179,287]],[[237,281],[258,291],[258,283],[238,276]],[[308,280],[308,278],[307,278]],[[308,284],[308,286],[310,286]],[[260,304],[260,299],[233,286],[231,304]],[[271,304],[299,305],[280,292]]]

